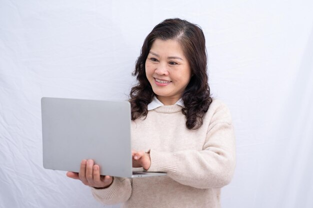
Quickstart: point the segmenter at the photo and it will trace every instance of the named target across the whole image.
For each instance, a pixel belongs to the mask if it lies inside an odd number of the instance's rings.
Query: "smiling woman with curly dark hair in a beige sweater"
[[[105,205],[127,208],[219,208],[220,188],[235,167],[228,108],[210,97],[202,30],[165,19],[145,38],[130,91],[133,167],[167,176],[100,176],[92,160],[67,176],[92,187]]]

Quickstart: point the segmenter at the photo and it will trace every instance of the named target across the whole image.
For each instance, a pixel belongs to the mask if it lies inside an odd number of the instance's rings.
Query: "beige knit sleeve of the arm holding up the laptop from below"
[[[131,195],[131,179],[114,177],[112,184],[105,189],[91,187],[95,200],[103,205],[113,205],[126,202]]]

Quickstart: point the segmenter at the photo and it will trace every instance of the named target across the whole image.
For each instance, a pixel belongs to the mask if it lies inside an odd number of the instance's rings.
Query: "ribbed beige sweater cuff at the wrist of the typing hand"
[[[176,154],[150,150],[151,165],[147,172],[176,173]]]

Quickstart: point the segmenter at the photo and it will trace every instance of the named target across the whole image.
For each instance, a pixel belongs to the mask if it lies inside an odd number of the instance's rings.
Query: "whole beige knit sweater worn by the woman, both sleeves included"
[[[213,100],[203,125],[188,130],[181,106],[161,106],[132,122],[132,148],[150,150],[149,172],[167,176],[114,177],[106,189],[91,188],[104,205],[123,208],[219,208],[220,188],[235,168],[235,139],[228,108]]]

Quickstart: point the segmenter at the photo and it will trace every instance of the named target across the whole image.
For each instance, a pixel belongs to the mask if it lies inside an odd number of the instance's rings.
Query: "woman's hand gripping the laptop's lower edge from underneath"
[[[111,176],[100,176],[100,168],[98,165],[94,165],[93,160],[82,160],[79,173],[67,172],[66,176],[80,180],[84,185],[97,189],[107,188],[113,182]]]

